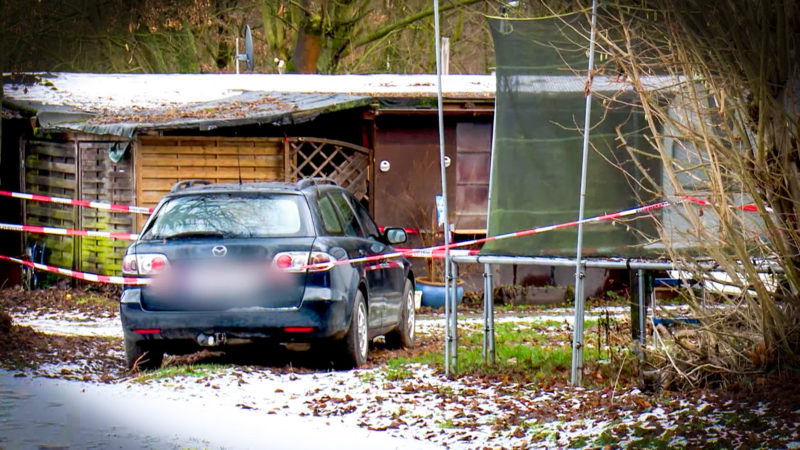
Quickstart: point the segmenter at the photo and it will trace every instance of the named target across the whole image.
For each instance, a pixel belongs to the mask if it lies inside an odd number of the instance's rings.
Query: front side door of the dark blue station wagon
[[[367,235],[367,239],[372,241],[372,249],[376,254],[385,254],[394,251],[390,245],[385,245],[379,241],[381,235],[378,226],[369,215],[367,208],[358,203],[352,196],[348,196],[350,202],[356,210],[356,214],[361,222],[361,227]],[[381,280],[384,282],[384,319],[383,326],[393,326],[400,320],[400,309],[403,304],[403,289],[406,286],[406,271],[402,258],[386,259],[381,261]]]

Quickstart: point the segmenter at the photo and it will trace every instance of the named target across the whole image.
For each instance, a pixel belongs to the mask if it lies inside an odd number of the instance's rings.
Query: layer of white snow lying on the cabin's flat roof
[[[203,103],[245,92],[347,94],[370,97],[433,97],[435,75],[275,74],[37,74],[29,86],[10,83],[13,100],[72,106],[86,112],[108,108],[157,108]],[[27,87],[27,91],[24,88]],[[494,76],[443,76],[444,96],[494,98]]]

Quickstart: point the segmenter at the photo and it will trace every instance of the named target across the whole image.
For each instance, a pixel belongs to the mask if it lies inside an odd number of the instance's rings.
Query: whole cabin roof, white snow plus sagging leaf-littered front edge
[[[376,98],[436,96],[435,75],[91,74],[4,76],[4,102],[47,129],[133,136],[137,129],[296,123]],[[448,99],[494,99],[491,75],[447,75]]]

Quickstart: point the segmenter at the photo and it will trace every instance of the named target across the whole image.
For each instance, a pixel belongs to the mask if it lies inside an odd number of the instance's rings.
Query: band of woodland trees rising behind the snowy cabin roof
[[[488,72],[484,15],[502,3],[441,3],[453,72]],[[231,71],[250,25],[257,72],[432,72],[432,14],[428,0],[6,0],[0,57],[11,71]]]

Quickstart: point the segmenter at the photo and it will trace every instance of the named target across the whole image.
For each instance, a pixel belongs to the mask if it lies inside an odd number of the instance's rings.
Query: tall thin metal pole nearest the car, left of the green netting
[[[444,111],[443,111],[443,101],[442,101],[442,43],[439,40],[439,0],[433,0],[433,28],[434,28],[434,39],[435,42],[435,51],[436,51],[436,101],[438,105],[438,116],[439,116],[439,166],[442,173],[442,215],[444,216],[444,279],[445,279],[445,290],[444,290],[444,314],[445,314],[445,362],[444,362],[444,373],[445,375],[450,375],[450,359],[452,358],[454,361],[457,360],[457,356],[455,354],[448,355],[448,347],[451,346],[452,341],[454,339],[454,331],[450,329],[450,315],[456,315],[455,308],[451,307],[448,308],[447,305],[450,303],[450,289],[447,289],[449,283],[452,282],[451,275],[450,275],[450,219],[448,217],[447,212],[447,174],[445,173],[445,165],[444,165]],[[455,306],[455,302],[451,306]],[[455,322],[455,321],[454,321]],[[450,358],[448,358],[448,356]]]

